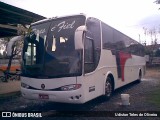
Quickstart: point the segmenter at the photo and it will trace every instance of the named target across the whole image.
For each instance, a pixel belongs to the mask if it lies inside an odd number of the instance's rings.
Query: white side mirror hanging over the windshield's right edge
[[[86,26],[79,26],[74,35],[74,44],[75,44],[75,49],[83,49],[83,32],[86,31]]]

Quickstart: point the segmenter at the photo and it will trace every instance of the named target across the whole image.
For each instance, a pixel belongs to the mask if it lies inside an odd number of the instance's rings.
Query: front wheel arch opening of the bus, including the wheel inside
[[[106,77],[105,86],[104,86],[104,96],[109,99],[112,96],[114,91],[114,77],[109,73]]]

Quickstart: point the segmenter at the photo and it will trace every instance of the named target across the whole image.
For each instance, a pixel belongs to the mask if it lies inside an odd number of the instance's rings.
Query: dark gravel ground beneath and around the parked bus
[[[0,111],[14,111],[14,112],[28,112],[28,111],[41,111],[42,116],[49,116],[50,118],[59,118],[59,116],[64,115],[64,111],[70,112],[70,119],[75,117],[76,119],[80,119],[77,116],[84,116],[85,119],[86,114],[83,112],[87,111],[92,113],[90,117],[92,119],[96,119],[96,117],[100,117],[102,114],[108,114],[107,112],[102,112],[99,115],[100,111],[160,111],[160,108],[156,105],[148,102],[148,94],[151,94],[153,90],[159,88],[160,80],[159,79],[142,79],[140,83],[134,82],[129,84],[123,88],[120,88],[115,91],[114,95],[110,100],[105,100],[102,97],[96,98],[92,101],[89,101],[83,105],[75,105],[75,104],[62,104],[62,103],[53,103],[47,101],[36,101],[36,100],[27,100],[24,99],[20,93],[5,97],[0,99]],[[130,95],[130,105],[122,106],[121,105],[121,94],[127,93]],[[63,111],[63,112],[62,112]],[[75,115],[75,111],[81,111]],[[98,111],[97,113],[95,111]],[[93,114],[95,113],[95,115]],[[111,113],[112,114],[112,113]],[[65,116],[65,115],[64,115]],[[86,118],[87,119],[87,118]],[[103,118],[102,118],[103,119]],[[112,118],[110,118],[112,119]],[[119,118],[124,119],[124,118]],[[130,118],[132,119],[132,118]],[[135,117],[133,117],[135,119]],[[142,117],[139,119],[143,119]],[[151,119],[147,117],[146,119]],[[155,118],[154,119],[158,119]]]

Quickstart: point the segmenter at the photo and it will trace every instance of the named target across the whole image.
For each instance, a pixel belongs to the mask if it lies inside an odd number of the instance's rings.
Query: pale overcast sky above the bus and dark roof
[[[140,21],[160,15],[155,0],[0,0],[47,18],[84,13],[139,40]],[[152,21],[154,22],[154,21]],[[147,23],[150,24],[150,23]],[[143,35],[142,35],[143,36]],[[144,37],[144,36],[143,36]],[[144,38],[142,38],[144,39]]]

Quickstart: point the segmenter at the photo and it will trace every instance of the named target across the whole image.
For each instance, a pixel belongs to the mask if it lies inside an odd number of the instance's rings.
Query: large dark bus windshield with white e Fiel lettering
[[[72,16],[32,25],[24,40],[22,75],[35,78],[81,75],[82,50],[75,49],[74,34],[84,24],[84,16]]]

